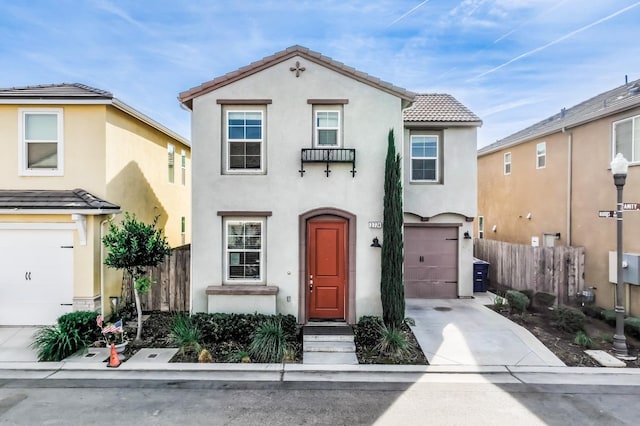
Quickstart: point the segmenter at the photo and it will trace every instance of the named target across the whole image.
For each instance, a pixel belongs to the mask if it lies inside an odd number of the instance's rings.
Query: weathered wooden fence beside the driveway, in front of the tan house
[[[584,289],[584,247],[531,247],[475,239],[473,255],[489,262],[489,285],[555,294],[569,303]]]

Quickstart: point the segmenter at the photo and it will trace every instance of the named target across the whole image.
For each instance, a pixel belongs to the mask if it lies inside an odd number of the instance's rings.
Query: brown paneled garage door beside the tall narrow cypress
[[[458,297],[458,228],[405,227],[405,296]]]

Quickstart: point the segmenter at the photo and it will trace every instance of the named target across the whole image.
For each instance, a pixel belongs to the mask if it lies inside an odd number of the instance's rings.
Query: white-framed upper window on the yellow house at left
[[[20,109],[19,171],[25,176],[62,176],[62,109]]]

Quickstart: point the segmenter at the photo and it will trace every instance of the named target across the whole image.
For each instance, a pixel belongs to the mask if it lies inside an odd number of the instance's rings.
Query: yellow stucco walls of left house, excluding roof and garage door
[[[61,108],[63,110],[64,175],[19,176],[19,108]],[[151,126],[106,105],[0,105],[0,181],[3,189],[71,190],[82,188],[97,197],[121,205],[141,219],[161,214],[160,225],[173,246],[181,245],[180,218],[187,218],[190,235],[191,164],[190,149]],[[176,184],[167,182],[167,148],[176,147]],[[180,181],[180,152],[187,152],[187,184]],[[133,166],[132,166],[133,165]],[[141,170],[140,173],[131,170]],[[141,189],[142,188],[142,189]],[[149,195],[151,194],[151,196]],[[163,200],[159,202],[157,200]],[[109,216],[87,216],[87,241],[83,245],[74,233],[74,298],[92,300],[105,286],[106,300],[120,295],[122,274],[102,265],[101,243]],[[69,214],[0,215],[0,222],[71,223]],[[108,303],[108,302],[107,302]]]

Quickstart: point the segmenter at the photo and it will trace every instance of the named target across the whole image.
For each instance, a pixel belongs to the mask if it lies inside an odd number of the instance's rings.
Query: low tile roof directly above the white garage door
[[[84,189],[12,190],[0,189],[0,210],[120,210]]]

